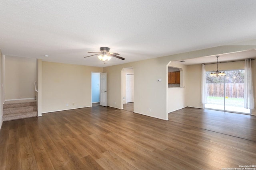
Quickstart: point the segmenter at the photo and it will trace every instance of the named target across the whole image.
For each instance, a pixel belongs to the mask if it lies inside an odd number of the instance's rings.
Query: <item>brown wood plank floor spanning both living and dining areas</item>
[[[231,122],[232,115],[214,113],[186,107],[170,113],[169,121],[164,121],[95,106],[3,122],[0,170],[176,170],[255,165],[255,117],[237,114],[237,120]],[[252,137],[235,137],[237,129],[241,133],[246,129]],[[225,134],[230,131],[237,132]]]

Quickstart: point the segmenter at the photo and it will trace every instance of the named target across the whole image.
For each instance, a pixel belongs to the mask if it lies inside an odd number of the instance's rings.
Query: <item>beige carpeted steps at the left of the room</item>
[[[3,121],[36,116],[36,100],[13,100],[4,102]]]

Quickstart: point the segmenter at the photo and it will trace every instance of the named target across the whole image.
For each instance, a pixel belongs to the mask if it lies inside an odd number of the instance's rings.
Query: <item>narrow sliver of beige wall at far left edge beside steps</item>
[[[0,130],[2,128],[2,123],[3,123],[3,103],[4,103],[4,90],[3,90],[3,56],[2,56],[2,51],[0,50]]]

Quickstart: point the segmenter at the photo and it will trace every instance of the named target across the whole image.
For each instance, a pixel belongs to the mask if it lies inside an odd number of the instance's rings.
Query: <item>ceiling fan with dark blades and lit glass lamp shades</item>
[[[100,52],[87,52],[87,53],[97,53],[97,54],[94,54],[94,55],[98,55],[98,58],[101,61],[110,60],[111,57],[116,57],[118,59],[124,60],[123,57],[117,56],[117,55],[120,55],[120,54],[109,52],[109,50],[110,50],[110,48],[108,48],[108,47],[100,47]],[[94,55],[89,55],[89,56],[86,56],[86,57],[91,57],[91,56],[94,56]],[[84,57],[84,58],[86,58],[86,57]]]

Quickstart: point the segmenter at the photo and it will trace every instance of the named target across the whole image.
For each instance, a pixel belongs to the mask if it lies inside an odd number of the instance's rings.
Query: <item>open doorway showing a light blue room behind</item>
[[[92,72],[92,106],[100,105],[100,73]]]

